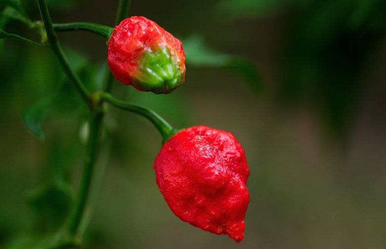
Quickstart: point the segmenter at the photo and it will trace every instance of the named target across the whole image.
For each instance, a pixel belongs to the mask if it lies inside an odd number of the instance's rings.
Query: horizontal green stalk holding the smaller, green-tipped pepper
[[[88,22],[73,22],[73,23],[54,23],[52,27],[55,31],[88,31],[99,36],[102,36],[106,39],[109,39],[113,28]]]

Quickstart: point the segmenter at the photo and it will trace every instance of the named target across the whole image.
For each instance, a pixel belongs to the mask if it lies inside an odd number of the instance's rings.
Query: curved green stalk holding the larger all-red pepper
[[[146,107],[138,106],[122,100],[118,100],[105,92],[100,92],[99,97],[100,99],[105,100],[106,102],[110,103],[115,107],[140,114],[141,116],[148,119],[158,129],[159,133],[161,133],[163,137],[163,142],[166,142],[167,140],[169,140],[170,137],[177,131],[163,118],[161,118],[158,114],[156,114],[154,111]]]

